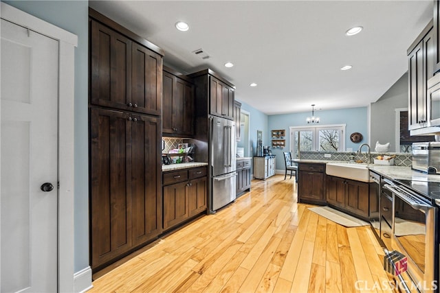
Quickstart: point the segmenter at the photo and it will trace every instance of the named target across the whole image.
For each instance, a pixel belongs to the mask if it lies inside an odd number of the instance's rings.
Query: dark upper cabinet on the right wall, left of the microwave
[[[428,126],[428,80],[434,76],[432,23],[408,49],[408,130]]]

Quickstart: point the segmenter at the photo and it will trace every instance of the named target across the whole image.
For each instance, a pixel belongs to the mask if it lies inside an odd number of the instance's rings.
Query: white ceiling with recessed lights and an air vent
[[[432,19],[432,0],[89,5],[164,49],[164,64],[182,73],[217,71],[236,85],[236,99],[267,115],[377,101],[407,71],[406,49]],[[177,21],[190,30],[177,31]],[[345,36],[357,25],[360,34]],[[193,54],[197,49],[210,58]],[[224,67],[228,61],[235,66]],[[344,65],[353,69],[341,71]]]

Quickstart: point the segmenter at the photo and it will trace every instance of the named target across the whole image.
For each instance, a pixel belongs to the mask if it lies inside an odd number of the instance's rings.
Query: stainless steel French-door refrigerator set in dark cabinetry
[[[214,212],[235,200],[236,155],[235,122],[210,117],[210,211]]]

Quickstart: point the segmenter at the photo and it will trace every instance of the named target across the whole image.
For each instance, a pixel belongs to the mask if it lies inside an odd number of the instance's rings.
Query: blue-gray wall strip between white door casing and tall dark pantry
[[[75,267],[89,266],[88,38],[89,1],[4,1],[78,36],[75,49]],[[63,117],[61,117],[62,119]]]

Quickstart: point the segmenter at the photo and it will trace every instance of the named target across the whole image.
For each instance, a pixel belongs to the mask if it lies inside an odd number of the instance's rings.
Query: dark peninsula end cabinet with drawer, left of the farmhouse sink
[[[325,204],[325,164],[298,163],[298,202]]]

